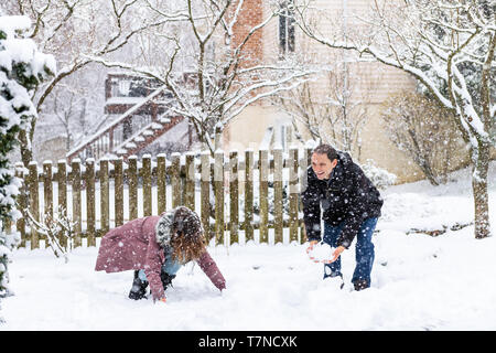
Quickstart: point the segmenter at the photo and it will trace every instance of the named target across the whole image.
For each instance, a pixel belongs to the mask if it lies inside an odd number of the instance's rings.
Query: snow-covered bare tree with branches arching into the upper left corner
[[[91,57],[118,53],[143,30],[160,24],[157,17],[144,15],[143,0],[7,0],[2,8],[10,14],[31,18],[30,38],[45,53],[57,58],[57,73],[34,90],[33,101],[42,113],[47,97],[64,78],[86,67]],[[31,141],[36,119],[22,133],[21,158],[26,165],[32,159]]]

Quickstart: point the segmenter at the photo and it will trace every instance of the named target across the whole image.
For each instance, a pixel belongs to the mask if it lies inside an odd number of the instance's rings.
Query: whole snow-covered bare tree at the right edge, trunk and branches
[[[355,33],[323,35],[308,25],[311,3],[298,8],[305,34],[334,49],[368,55],[419,79],[455,117],[471,146],[475,237],[490,235],[487,172],[495,146],[496,4],[486,0],[371,1],[368,15],[353,17]]]

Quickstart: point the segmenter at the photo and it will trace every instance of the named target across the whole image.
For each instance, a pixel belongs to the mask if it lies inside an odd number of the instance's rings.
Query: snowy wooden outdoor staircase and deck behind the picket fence
[[[140,156],[160,150],[163,140],[191,148],[193,131],[187,121],[171,111],[172,94],[155,81],[129,73],[111,72],[105,83],[105,118],[97,130],[67,152],[79,158]],[[172,131],[174,130],[174,131]],[[165,135],[169,132],[169,135]],[[172,132],[172,133],[171,133]],[[153,147],[158,145],[159,147]],[[170,149],[173,146],[169,145]]]

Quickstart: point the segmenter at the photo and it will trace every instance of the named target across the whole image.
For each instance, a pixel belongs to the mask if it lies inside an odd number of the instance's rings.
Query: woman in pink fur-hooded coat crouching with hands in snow
[[[205,247],[197,214],[180,206],[160,216],[137,218],[108,232],[100,243],[95,270],[120,272],[133,269],[130,299],[165,301],[165,289],[182,265],[195,260],[219,290],[226,281]]]

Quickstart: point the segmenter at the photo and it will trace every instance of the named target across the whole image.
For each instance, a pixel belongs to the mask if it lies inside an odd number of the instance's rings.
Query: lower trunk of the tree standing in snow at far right
[[[472,190],[475,206],[475,238],[482,239],[490,236],[489,197],[487,191],[489,143],[478,141],[478,148],[472,154],[474,156]]]

